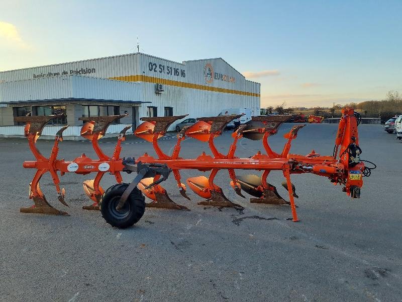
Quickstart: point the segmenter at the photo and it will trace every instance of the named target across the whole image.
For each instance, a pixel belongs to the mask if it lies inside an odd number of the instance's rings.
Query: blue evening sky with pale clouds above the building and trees
[[[261,83],[261,107],[402,92],[402,0],[0,0],[0,70],[140,51],[222,57]]]

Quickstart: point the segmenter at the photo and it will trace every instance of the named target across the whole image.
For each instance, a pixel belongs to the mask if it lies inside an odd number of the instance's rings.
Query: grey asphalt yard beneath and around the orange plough
[[[269,140],[274,150],[293,124],[282,125]],[[291,153],[315,149],[331,155],[335,124],[309,124],[299,131]],[[225,152],[230,131],[217,138]],[[360,125],[362,159],[377,164],[364,178],[361,199],[351,199],[340,186],[314,175],[292,175],[299,222],[289,206],[251,204],[229,185],[226,171],[216,183],[227,197],[245,209],[196,204],[177,191],[173,177],[163,184],[170,197],[190,211],[147,208],[132,228],[107,224],[90,205],[82,181],[90,175],[61,178],[70,208],[57,201],[49,175],[41,180],[47,199],[71,216],[23,214],[30,206],[28,184],[34,170],[26,139],[0,139],[0,300],[1,301],[400,301],[402,300],[402,232],[400,217],[400,156],[402,143],[380,125]],[[100,145],[111,154],[115,139]],[[161,139],[168,152],[174,135]],[[39,140],[48,155],[53,142]],[[236,155],[249,157],[261,141],[242,139]],[[208,145],[194,139],[182,143],[181,156],[194,158]],[[153,155],[148,142],[129,137],[122,156]],[[72,160],[85,153],[96,158],[87,141],[60,143],[59,158]],[[249,174],[237,171],[238,175]],[[258,174],[258,172],[255,172]],[[184,171],[183,181],[199,171]],[[123,175],[129,182],[135,174]],[[269,182],[280,195],[281,172]],[[113,185],[113,176],[102,185]],[[149,202],[149,200],[147,200]]]

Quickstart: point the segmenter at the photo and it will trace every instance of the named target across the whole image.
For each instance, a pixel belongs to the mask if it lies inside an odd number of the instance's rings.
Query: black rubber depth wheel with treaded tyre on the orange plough
[[[137,223],[145,211],[145,197],[138,188],[134,188],[121,210],[116,209],[120,197],[128,186],[129,184],[122,183],[110,187],[102,195],[99,202],[102,217],[105,218],[106,222],[120,229],[128,228]]]

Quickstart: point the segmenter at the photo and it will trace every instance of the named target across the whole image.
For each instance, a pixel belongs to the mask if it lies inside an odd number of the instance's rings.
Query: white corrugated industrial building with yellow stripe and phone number
[[[222,58],[182,63],[144,53],[88,59],[0,72],[0,136],[20,136],[16,116],[66,113],[43,135],[62,125],[65,137],[78,138],[78,117],[129,116],[109,133],[139,125],[140,117],[189,114],[216,116],[224,108],[260,112],[260,84],[248,81]],[[173,130],[172,125],[169,130]]]

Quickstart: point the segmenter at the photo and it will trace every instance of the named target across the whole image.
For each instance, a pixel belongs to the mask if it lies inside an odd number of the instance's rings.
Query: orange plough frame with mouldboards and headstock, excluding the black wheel
[[[112,156],[108,156],[103,153],[102,149],[98,145],[98,139],[105,135],[106,129],[111,122],[123,116],[82,118],[85,121],[85,124],[82,127],[81,135],[92,142],[93,149],[95,150],[98,159],[93,160],[85,156],[85,154],[82,154],[73,161],[57,159],[59,150],[58,143],[62,141],[62,133],[67,127],[62,128],[56,134],[52,152],[49,158],[41,155],[36,147],[36,140],[40,136],[44,125],[50,119],[57,117],[59,116],[19,118],[21,121],[25,121],[27,123],[25,127],[25,135],[28,138],[29,146],[36,159],[35,161],[24,162],[23,166],[24,168],[37,169],[31,183],[31,192],[29,196],[34,200],[35,204],[30,208],[21,208],[22,212],[66,214],[65,212],[58,211],[50,206],[40,190],[39,181],[47,172],[51,174],[53,182],[56,186],[59,200],[64,204],[65,190],[60,189],[60,180],[57,175],[57,171],[60,172],[60,176],[63,176],[67,172],[83,175],[96,172],[96,176],[93,180],[84,182],[84,189],[88,196],[93,200],[93,204],[91,206],[83,207],[86,209],[98,209],[98,202],[100,201],[104,191],[102,187],[100,187],[99,182],[105,173],[108,172],[113,174],[118,183],[122,182],[120,173],[124,171],[124,164],[123,159],[120,158],[122,149],[121,143],[125,140],[125,132],[129,127],[123,129],[119,135],[117,145]],[[231,185],[235,189],[236,193],[238,193],[240,196],[243,196],[240,192],[241,181],[236,176],[235,169],[263,171],[261,176],[261,184],[255,188],[257,191],[261,192],[261,198],[254,202],[276,204],[283,204],[283,202],[279,202],[277,197],[273,198],[276,200],[269,199],[269,195],[272,192],[276,195],[277,193],[275,187],[267,182],[267,177],[272,170],[282,171],[286,180],[284,186],[289,193],[288,204],[290,204],[291,207],[293,221],[298,221],[298,217],[294,203],[294,196],[296,195],[293,191],[293,185],[291,184],[290,180],[291,174],[313,173],[319,176],[328,177],[330,181],[334,183],[334,185],[344,185],[344,191],[348,195],[351,194],[352,187],[360,188],[363,185],[362,171],[364,170],[364,164],[358,163],[353,167],[349,167],[349,154],[346,152],[351,143],[354,142],[358,145],[357,123],[352,108],[346,108],[342,111],[342,118],[339,123],[335,142],[336,146],[334,156],[320,156],[319,154],[316,154],[314,150],[311,154],[306,156],[289,154],[292,140],[297,137],[297,131],[304,125],[294,126],[288,133],[286,133],[284,137],[287,138],[287,142],[284,145],[282,152],[280,154],[275,153],[269,146],[268,137],[277,133],[277,128],[284,121],[284,119],[283,117],[265,116],[252,118],[253,122],[257,123],[257,126],[241,125],[232,134],[233,142],[227,154],[222,154],[218,151],[215,146],[214,139],[222,134],[222,131],[225,125],[230,121],[230,118],[198,118],[197,123],[189,128],[183,129],[177,135],[177,142],[174,146],[172,154],[166,155],[158,145],[158,139],[166,133],[166,130],[171,123],[183,117],[184,116],[142,118],[144,122],[137,127],[135,134],[149,142],[152,142],[157,154],[157,158],[151,157],[145,153],[136,160],[136,163],[142,162],[148,164],[166,164],[170,169],[172,169],[173,176],[177,182],[180,193],[187,199],[189,198],[185,193],[186,186],[181,183],[180,170],[192,169],[203,172],[211,171],[208,179],[204,176],[199,176],[189,178],[187,180],[187,185],[196,194],[207,198],[207,201],[199,202],[199,204],[241,207],[240,205],[230,202],[223,195],[222,189],[214,184],[214,178],[221,169],[228,170],[230,179],[232,181]],[[266,154],[258,152],[251,158],[237,158],[235,156],[237,143],[240,138],[246,137],[247,135],[262,136],[263,147]],[[193,137],[200,141],[208,142],[212,156],[203,152],[195,159],[180,158],[180,144],[185,137]],[[339,157],[338,154],[340,155]],[[351,177],[351,171],[353,177]],[[144,179],[139,184],[139,188],[143,189],[144,193],[153,199],[153,202],[149,206],[165,207],[165,205],[173,204],[173,206],[166,207],[185,208],[183,206],[176,205],[170,198],[168,198],[166,190],[161,185],[144,189],[149,183],[156,181],[157,177],[152,180]],[[279,197],[279,199],[281,198]]]

